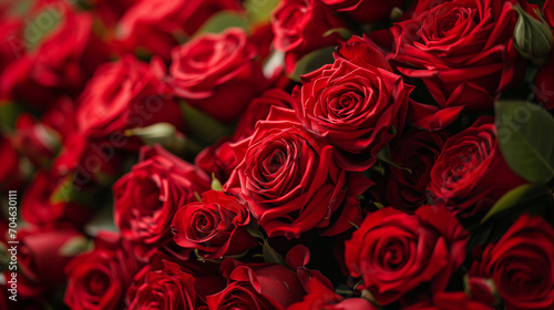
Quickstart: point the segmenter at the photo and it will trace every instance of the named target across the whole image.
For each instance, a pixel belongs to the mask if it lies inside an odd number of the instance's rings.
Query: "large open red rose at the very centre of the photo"
[[[356,197],[370,182],[339,168],[332,146],[306,132],[293,110],[271,108],[235,154],[244,159],[224,190],[248,204],[269,237],[298,238],[312,228],[335,235],[360,221]]]

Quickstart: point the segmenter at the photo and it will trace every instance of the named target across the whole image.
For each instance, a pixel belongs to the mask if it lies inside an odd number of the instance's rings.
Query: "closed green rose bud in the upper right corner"
[[[541,66],[548,59],[552,49],[552,30],[545,22],[536,20],[520,6],[514,7],[514,10],[520,14],[514,29],[515,49],[523,58]]]

